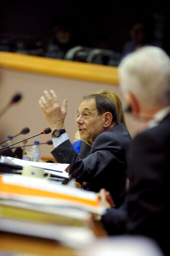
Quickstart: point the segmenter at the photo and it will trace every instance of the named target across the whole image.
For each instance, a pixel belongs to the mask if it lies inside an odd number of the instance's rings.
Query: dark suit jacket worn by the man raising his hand
[[[89,190],[105,188],[118,207],[125,196],[126,151],[132,139],[122,123],[102,132],[94,140],[90,153],[81,160],[69,140],[51,153],[58,163],[70,163],[69,173],[77,182],[87,182]]]

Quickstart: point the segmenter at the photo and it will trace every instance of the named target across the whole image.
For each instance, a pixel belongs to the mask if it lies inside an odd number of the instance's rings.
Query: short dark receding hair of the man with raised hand
[[[89,94],[82,97],[83,100],[93,99],[95,101],[98,114],[110,112],[112,115],[112,123],[117,124],[117,114],[115,104],[106,96],[102,94]]]

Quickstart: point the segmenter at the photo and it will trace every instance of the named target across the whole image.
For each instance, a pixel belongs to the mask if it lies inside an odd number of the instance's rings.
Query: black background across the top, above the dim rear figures
[[[50,38],[52,26],[67,21],[73,45],[122,51],[129,27],[148,17],[153,39],[169,54],[169,4],[164,1],[0,1],[0,36]]]

